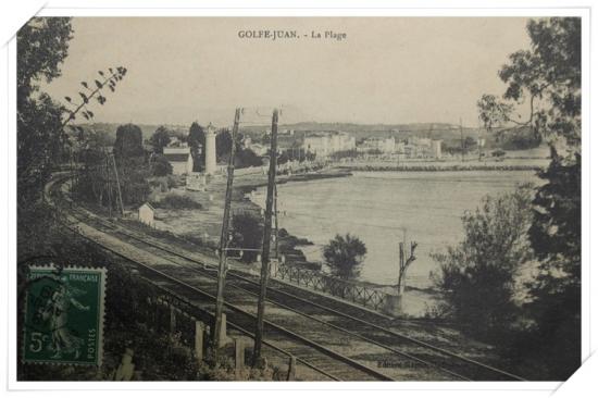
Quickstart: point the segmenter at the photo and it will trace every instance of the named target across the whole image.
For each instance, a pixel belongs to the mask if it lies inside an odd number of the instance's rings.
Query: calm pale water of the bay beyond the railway
[[[397,284],[399,242],[416,241],[407,284],[426,288],[438,270],[432,253],[463,240],[463,214],[525,183],[540,179],[533,171],[357,172],[281,184],[278,224],[313,242],[300,247],[310,261],[323,262],[322,249],[336,234],[358,236],[367,249],[359,278],[379,285]],[[252,200],[264,207],[265,188]]]

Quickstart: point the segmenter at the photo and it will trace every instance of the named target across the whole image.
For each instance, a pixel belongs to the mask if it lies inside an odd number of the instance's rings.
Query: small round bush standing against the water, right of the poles
[[[350,279],[359,276],[366,252],[365,245],[357,236],[337,234],[324,247],[323,254],[333,275]]]

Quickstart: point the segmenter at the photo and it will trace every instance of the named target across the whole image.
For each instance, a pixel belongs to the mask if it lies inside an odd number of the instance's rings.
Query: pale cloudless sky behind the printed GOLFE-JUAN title
[[[79,82],[125,66],[96,122],[244,124],[459,123],[477,126],[476,101],[501,95],[497,72],[527,49],[519,17],[76,17],[62,76],[43,89],[78,97]],[[298,38],[240,38],[239,32]],[[342,40],[312,32],[346,34]],[[307,35],[307,36],[304,36]]]

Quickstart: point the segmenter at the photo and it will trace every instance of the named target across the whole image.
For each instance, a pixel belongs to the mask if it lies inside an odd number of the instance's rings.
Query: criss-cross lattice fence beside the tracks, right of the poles
[[[278,265],[273,268],[272,271],[273,277],[326,293],[374,310],[382,310],[388,301],[388,296],[390,296],[372,287],[297,266]]]

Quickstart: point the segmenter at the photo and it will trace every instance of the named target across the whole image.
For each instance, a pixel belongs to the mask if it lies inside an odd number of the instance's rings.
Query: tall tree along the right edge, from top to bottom
[[[532,48],[511,54],[499,72],[506,100],[530,101],[528,120],[514,121],[511,112],[504,120],[532,128],[551,149],[549,167],[538,174],[546,184],[537,189],[530,227],[540,265],[524,306],[528,326],[511,345],[523,368],[533,361],[538,378],[565,380],[580,365],[581,28],[578,17],[531,20]],[[497,107],[481,107],[491,110]]]

